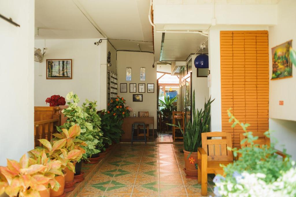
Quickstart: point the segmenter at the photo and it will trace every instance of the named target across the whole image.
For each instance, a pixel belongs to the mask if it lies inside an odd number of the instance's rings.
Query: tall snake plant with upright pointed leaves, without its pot
[[[192,98],[192,121],[185,121],[185,131],[181,128],[181,125],[173,125],[180,128],[183,138],[184,138],[184,149],[189,152],[197,152],[197,148],[201,147],[201,134],[204,132],[210,131],[210,122],[211,122],[211,103],[215,100],[211,101],[210,99],[205,102],[205,106],[203,109],[198,110],[195,109],[195,91],[193,91]]]

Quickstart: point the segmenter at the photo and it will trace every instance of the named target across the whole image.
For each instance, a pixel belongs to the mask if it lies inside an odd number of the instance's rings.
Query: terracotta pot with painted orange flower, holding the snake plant
[[[187,178],[197,178],[197,169],[195,164],[197,162],[197,152],[184,151],[184,161],[185,161],[185,173]],[[188,155],[190,154],[189,158]]]

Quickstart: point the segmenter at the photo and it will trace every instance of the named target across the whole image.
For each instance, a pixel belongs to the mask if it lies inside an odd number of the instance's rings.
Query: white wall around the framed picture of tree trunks
[[[35,48],[47,47],[44,61],[35,62],[35,106],[46,106],[51,95],[66,97],[73,91],[81,102],[96,100],[100,103],[100,48],[98,39],[35,40]],[[44,44],[45,43],[45,44]],[[46,59],[72,59],[73,79],[46,79]],[[105,57],[106,58],[106,57]],[[42,76],[38,76],[41,69]],[[49,104],[47,104],[49,106]],[[97,109],[101,109],[100,106]]]

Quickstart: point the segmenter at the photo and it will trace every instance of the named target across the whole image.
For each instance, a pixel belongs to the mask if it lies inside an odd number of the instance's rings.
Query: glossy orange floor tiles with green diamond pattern
[[[197,180],[185,178],[182,149],[181,143],[119,144],[78,196],[201,196]]]

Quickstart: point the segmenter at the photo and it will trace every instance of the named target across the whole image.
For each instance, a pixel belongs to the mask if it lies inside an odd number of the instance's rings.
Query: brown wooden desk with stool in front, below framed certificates
[[[152,135],[154,137],[154,116],[149,117],[126,117],[123,119],[122,129],[124,133],[121,136],[121,141],[131,141],[131,133],[132,133],[132,124],[136,122],[142,122],[145,124],[153,124]],[[148,128],[149,129],[149,128]]]

